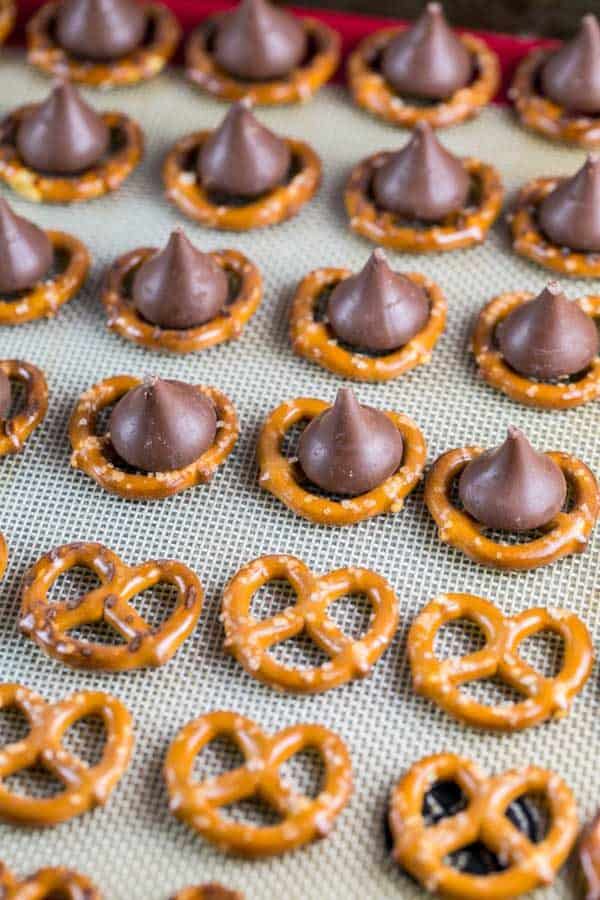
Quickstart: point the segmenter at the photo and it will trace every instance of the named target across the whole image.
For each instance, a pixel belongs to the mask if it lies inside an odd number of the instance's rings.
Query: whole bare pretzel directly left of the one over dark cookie
[[[194,762],[214,738],[231,738],[244,765],[198,782]],[[279,770],[296,753],[312,747],[325,767],[320,793],[297,794]],[[265,734],[251,719],[218,711],[189,722],[171,744],[165,761],[170,810],[220,849],[251,858],[273,856],[326,837],[352,793],[352,765],[344,742],[322,725],[292,725]],[[260,796],[281,817],[277,825],[234,822],[220,814],[247,797]]]

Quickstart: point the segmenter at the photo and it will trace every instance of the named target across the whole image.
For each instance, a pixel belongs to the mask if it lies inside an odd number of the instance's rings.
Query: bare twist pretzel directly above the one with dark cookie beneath
[[[438,659],[434,645],[439,630],[459,619],[479,626],[485,646],[466,656]],[[553,678],[541,675],[519,655],[520,644],[541,631],[552,631],[564,641],[561,670]],[[415,690],[450,715],[469,725],[518,731],[567,715],[571,701],[589,678],[594,649],[587,628],[568,610],[539,607],[509,618],[482,597],[444,594],[428,603],[412,623],[408,656]],[[462,693],[463,684],[493,676],[525,699],[489,706]]]

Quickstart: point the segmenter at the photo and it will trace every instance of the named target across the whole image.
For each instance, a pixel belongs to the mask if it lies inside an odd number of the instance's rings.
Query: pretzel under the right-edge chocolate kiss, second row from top
[[[538,208],[562,178],[534,178],[517,196],[515,209],[509,216],[513,250],[553,272],[575,278],[600,278],[600,253],[585,253],[558,247],[544,236],[537,222]]]

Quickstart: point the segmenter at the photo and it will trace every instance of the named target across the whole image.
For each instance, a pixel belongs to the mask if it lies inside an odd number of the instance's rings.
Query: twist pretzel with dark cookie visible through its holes
[[[435,825],[423,817],[423,800],[436,783],[455,781],[468,806]],[[524,794],[542,794],[549,827],[539,843],[510,821],[507,808]],[[394,858],[426,890],[455,900],[519,897],[550,884],[577,836],[575,798],[554,772],[537,766],[486,777],[471,760],[438,753],[415,763],[394,787],[390,804]],[[445,858],[481,841],[506,868],[485,876],[459,872]]]

